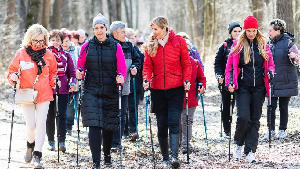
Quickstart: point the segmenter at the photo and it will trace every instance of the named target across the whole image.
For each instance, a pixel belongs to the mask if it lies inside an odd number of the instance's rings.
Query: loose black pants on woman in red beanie
[[[258,145],[258,130],[262,105],[265,100],[265,86],[243,87],[234,90],[237,105],[237,127],[234,141],[237,145],[244,145],[244,154],[255,152]]]

